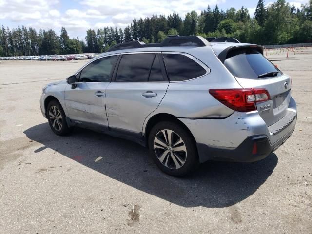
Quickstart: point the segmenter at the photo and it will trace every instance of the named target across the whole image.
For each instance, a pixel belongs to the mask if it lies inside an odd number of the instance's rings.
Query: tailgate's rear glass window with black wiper
[[[229,52],[224,65],[235,77],[239,78],[266,79],[273,76],[263,76],[261,78],[258,78],[258,76],[270,72],[279,72],[281,74],[261,53],[250,49]]]

